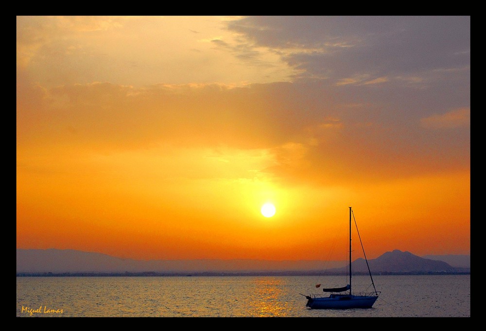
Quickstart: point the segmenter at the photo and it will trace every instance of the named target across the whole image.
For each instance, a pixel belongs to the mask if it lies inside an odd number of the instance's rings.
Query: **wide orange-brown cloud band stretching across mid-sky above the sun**
[[[26,103],[17,110],[22,124],[17,132],[19,150],[34,145],[101,154],[157,146],[227,150],[220,160],[260,150],[271,155],[273,163],[248,171],[272,173],[288,184],[316,186],[406,177],[462,167],[468,160],[465,155],[452,165],[442,159],[457,154],[456,147],[466,146],[468,132],[458,132],[450,142],[432,132],[419,134],[404,119],[406,113],[401,119],[397,113],[393,121],[386,120],[392,115],[380,115],[380,104],[351,99],[343,104],[332,100],[333,90],[319,91],[313,86],[312,94],[304,92],[309,92],[309,84],[135,88],[91,83],[50,90],[33,87],[32,91],[42,102]],[[422,124],[437,127],[437,123],[444,126],[454,121],[458,125],[465,116],[461,110],[431,116]],[[443,145],[437,149],[439,142]]]

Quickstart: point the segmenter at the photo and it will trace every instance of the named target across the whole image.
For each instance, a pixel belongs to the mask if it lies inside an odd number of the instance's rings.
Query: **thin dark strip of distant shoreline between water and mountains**
[[[407,276],[407,275],[470,275],[471,271],[397,271],[371,273],[373,276]],[[201,277],[201,276],[343,276],[343,273],[323,271],[276,271],[276,272],[18,272],[17,277]],[[353,276],[363,276],[367,273],[355,273]]]

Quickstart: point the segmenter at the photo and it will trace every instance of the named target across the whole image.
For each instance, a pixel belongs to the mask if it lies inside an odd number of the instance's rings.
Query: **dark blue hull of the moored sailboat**
[[[311,309],[355,309],[371,308],[378,296],[355,296],[331,294],[327,298],[307,297],[306,307]]]

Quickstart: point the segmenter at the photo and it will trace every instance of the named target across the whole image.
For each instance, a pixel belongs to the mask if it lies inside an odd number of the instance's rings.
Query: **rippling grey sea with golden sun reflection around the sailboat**
[[[352,281],[373,291],[369,277]],[[304,295],[344,286],[342,277],[17,277],[17,317],[470,317],[470,275],[373,281],[381,294],[371,309],[311,310]]]

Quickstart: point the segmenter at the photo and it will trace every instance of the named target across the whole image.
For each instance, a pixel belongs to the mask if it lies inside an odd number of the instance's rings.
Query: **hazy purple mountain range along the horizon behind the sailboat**
[[[408,251],[394,250],[368,260],[375,273],[427,273],[458,271],[444,261],[421,258]],[[151,260],[121,259],[101,253],[72,249],[17,249],[17,274],[39,273],[265,273],[327,272],[344,273],[343,261],[266,261],[266,260]],[[353,272],[367,272],[366,261],[352,263]],[[469,271],[469,269],[468,269]]]

